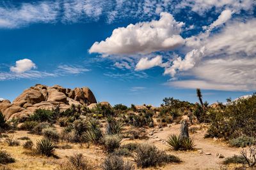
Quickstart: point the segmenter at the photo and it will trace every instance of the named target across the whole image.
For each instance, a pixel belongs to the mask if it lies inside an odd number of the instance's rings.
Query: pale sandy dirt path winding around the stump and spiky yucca
[[[148,142],[154,143],[158,148],[166,150],[168,153],[177,155],[182,159],[181,164],[170,164],[160,169],[220,169],[223,159],[216,157],[216,153],[221,153],[225,157],[232,155],[239,155],[241,148],[230,148],[225,143],[214,141],[214,139],[204,139],[205,130],[200,130],[190,136],[195,139],[196,149],[202,149],[203,153],[198,150],[192,152],[175,152],[170,150],[166,143],[163,143],[171,134],[179,134],[180,124],[172,125],[172,127],[164,127],[163,131],[157,131],[154,135],[157,136],[150,138]],[[159,141],[159,139],[161,139]],[[211,155],[205,155],[211,153]]]

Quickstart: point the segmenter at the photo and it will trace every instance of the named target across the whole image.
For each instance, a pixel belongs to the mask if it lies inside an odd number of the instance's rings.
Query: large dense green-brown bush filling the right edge
[[[256,135],[256,95],[228,103],[223,109],[210,110],[208,133],[218,138]]]

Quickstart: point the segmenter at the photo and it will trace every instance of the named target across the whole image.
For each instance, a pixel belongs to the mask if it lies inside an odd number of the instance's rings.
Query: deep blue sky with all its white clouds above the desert
[[[0,97],[42,83],[98,101],[210,103],[256,89],[253,0],[1,1]]]

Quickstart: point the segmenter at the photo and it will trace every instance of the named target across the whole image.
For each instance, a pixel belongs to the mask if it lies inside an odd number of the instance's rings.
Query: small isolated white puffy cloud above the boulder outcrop
[[[16,65],[10,67],[10,71],[15,73],[24,73],[25,71],[29,71],[35,68],[36,68],[36,64],[33,61],[29,59],[22,59],[22,60],[17,60]]]

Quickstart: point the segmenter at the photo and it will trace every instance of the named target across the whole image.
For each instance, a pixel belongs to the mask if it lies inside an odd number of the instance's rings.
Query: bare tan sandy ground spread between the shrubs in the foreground
[[[147,132],[155,131],[153,136],[147,140],[131,140],[124,139],[123,143],[150,143],[156,145],[161,150],[166,150],[166,152],[173,155],[177,155],[182,160],[180,164],[166,164],[163,167],[154,167],[148,169],[221,169],[221,162],[223,159],[216,157],[216,153],[221,153],[225,157],[230,157],[232,155],[239,155],[241,148],[230,148],[226,143],[214,140],[214,139],[204,139],[204,134],[206,129],[203,127],[200,128],[194,134],[190,134],[192,138],[195,139],[196,150],[189,152],[175,152],[170,150],[166,143],[164,142],[168,136],[171,134],[179,134],[180,124],[172,124],[170,127],[164,127],[163,131],[160,131],[159,128],[147,129]],[[28,134],[26,131],[17,131],[13,134],[8,134],[13,136],[15,139],[28,136],[33,143],[36,143],[36,140],[42,138],[42,136],[37,136],[33,134]],[[102,151],[102,148],[99,146],[90,145],[88,148],[86,145],[80,146],[76,144],[68,145],[72,146],[72,149],[56,149],[56,155],[60,157],[59,159],[54,159],[53,157],[47,158],[43,156],[31,156],[24,154],[24,149],[22,144],[25,141],[20,141],[20,146],[7,146],[4,143],[3,139],[0,139],[0,148],[6,150],[16,159],[16,162],[9,164],[8,167],[13,169],[55,169],[60,162],[63,162],[68,156],[73,155],[74,153],[83,153],[83,155],[90,160],[93,164],[93,169],[100,169],[100,163],[104,160],[106,153]],[[65,143],[60,143],[59,145],[65,145]],[[204,153],[199,153],[198,150],[202,150]],[[211,155],[205,155],[205,153],[211,153]],[[132,160],[129,158],[129,160]]]

